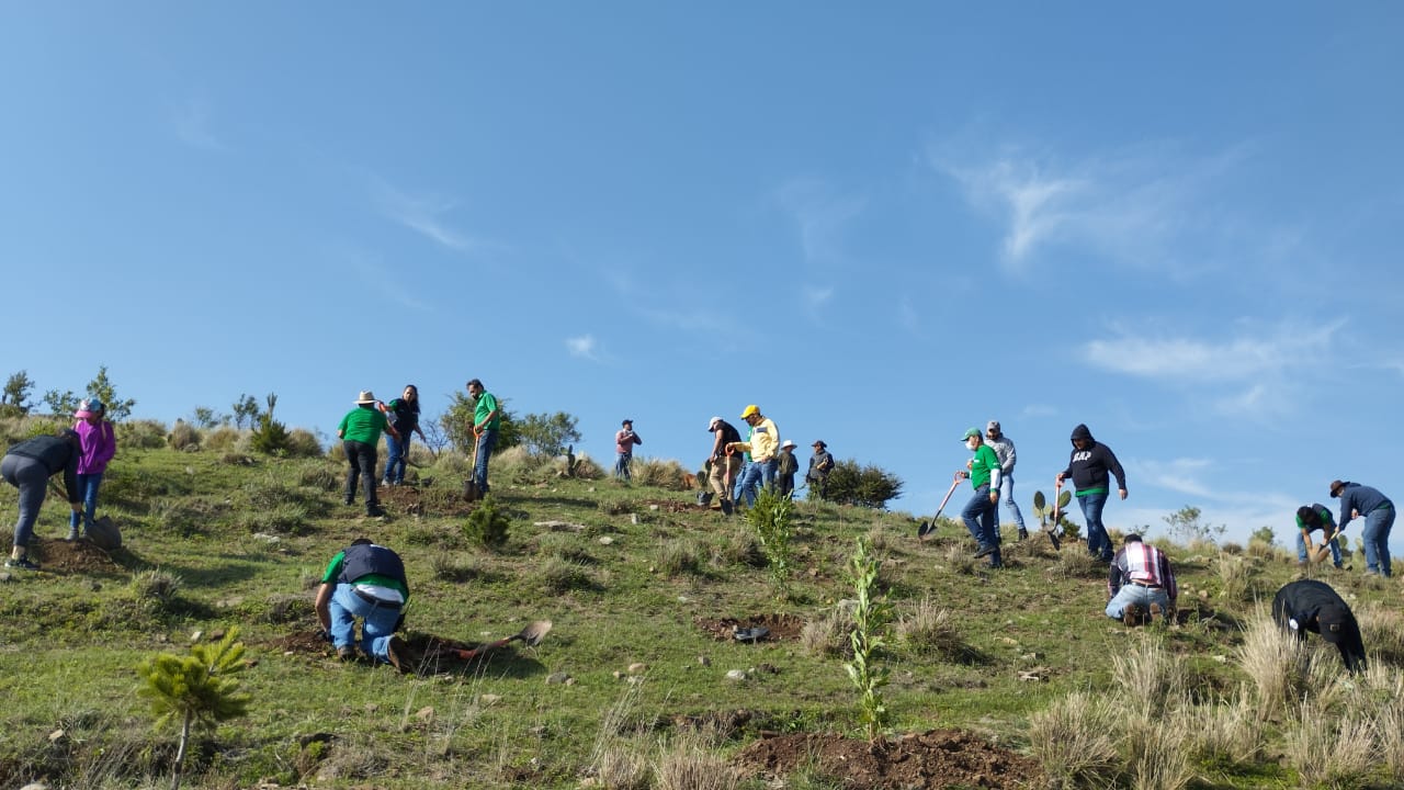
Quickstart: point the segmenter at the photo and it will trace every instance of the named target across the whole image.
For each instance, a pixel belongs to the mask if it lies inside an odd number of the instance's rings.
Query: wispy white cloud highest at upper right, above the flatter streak
[[[934,150],[928,160],[965,188],[972,205],[1004,219],[1001,253],[1009,271],[1047,247],[1070,245],[1175,276],[1191,267],[1182,254],[1186,236],[1219,233],[1203,195],[1241,156],[1231,150],[1196,160],[1170,146],[1143,146],[1080,162],[1021,150],[984,157]]]

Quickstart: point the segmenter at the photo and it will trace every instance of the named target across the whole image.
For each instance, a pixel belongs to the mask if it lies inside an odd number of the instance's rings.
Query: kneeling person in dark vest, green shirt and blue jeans
[[[355,661],[359,644],[366,656],[409,672],[413,668],[404,640],[395,635],[409,600],[410,582],[400,555],[362,537],[327,564],[313,607],[337,648],[337,658]],[[355,638],[357,620],[361,620],[359,641]]]

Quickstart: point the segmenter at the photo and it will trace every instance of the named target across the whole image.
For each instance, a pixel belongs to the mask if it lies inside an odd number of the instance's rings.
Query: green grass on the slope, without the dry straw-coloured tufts
[[[879,589],[896,616],[929,600],[949,611],[959,637],[960,649],[931,651],[889,634],[878,658],[890,669],[892,731],[958,727],[1028,751],[1033,714],[1071,692],[1106,689],[1112,658],[1147,640],[1182,662],[1192,696],[1227,697],[1247,682],[1233,659],[1243,637],[1219,623],[1247,621],[1254,592],[1271,596],[1297,574],[1294,558],[1279,552],[1244,564],[1247,576],[1226,582],[1217,555],[1174,548],[1181,585],[1193,590],[1181,606],[1198,603],[1200,613],[1178,630],[1127,631],[1102,614],[1104,572],[1060,558],[1042,537],[1007,544],[1007,568],[987,574],[967,559],[969,537],[955,522],[942,520],[918,543],[908,514],[797,502],[793,575],[778,597],[743,519],[653,509],[689,503],[694,493],[644,485],[637,471],[625,488],[494,467],[494,496],[511,526],[505,544],[487,550],[463,536],[462,519],[444,514],[456,506],[462,460],[418,468],[435,479],[421,495],[425,512],[382,522],[340,503],[344,468],[337,461],[251,458],[124,448],[100,507],[124,530],[119,568],[15,574],[0,585],[0,784],[160,786],[174,734],[152,728],[133,666],[156,652],[184,652],[195,631],[209,638],[233,626],[256,662],[240,675],[253,704],[247,717],[201,737],[188,758],[188,787],[261,779],[324,787],[577,787],[612,711],[623,718],[608,724],[621,731],[615,748],[646,755],[680,718],[736,710],[750,711],[750,724],[716,746],[723,756],[762,730],[856,734],[858,699],[844,656],[814,655],[799,640],[717,641],[695,620],[821,617],[852,596],[844,568],[859,534],[882,558]],[[14,489],[0,486],[0,513],[13,516],[14,507]],[[62,503],[46,503],[38,534],[59,537],[65,513]],[[550,619],[555,630],[536,649],[504,651],[441,676],[286,652],[288,637],[314,628],[312,581],[358,536],[404,558],[411,634],[487,641],[536,619]],[[153,571],[178,579],[174,592],[143,595]],[[1394,582],[1325,574],[1358,609],[1400,609]],[[1372,627],[1397,623],[1379,619]],[[1398,637],[1393,644],[1401,644]],[[1394,662],[1397,672],[1401,656],[1390,649],[1375,658]],[[647,665],[646,682],[619,710],[630,686],[615,673],[636,662]],[[775,672],[724,679],[729,669],[760,665]],[[567,673],[571,683],[548,685],[552,673]],[[1026,673],[1042,679],[1021,679]],[[58,730],[63,734],[55,737]],[[1261,765],[1217,760],[1202,772],[1200,786],[1290,784],[1282,741],[1265,753]],[[831,783],[802,775],[793,786]]]

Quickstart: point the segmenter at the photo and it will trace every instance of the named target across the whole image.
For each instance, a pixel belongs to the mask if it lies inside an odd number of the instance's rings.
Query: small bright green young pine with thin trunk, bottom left
[[[191,730],[213,730],[249,713],[249,696],[233,678],[249,666],[237,638],[239,628],[230,628],[218,644],[191,645],[188,656],[163,652],[136,668],[143,682],[138,694],[150,700],[156,725],[180,725],[171,790],[180,789]]]

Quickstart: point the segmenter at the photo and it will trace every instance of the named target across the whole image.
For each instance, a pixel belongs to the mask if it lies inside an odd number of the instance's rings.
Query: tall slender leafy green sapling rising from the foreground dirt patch
[[[858,604],[854,607],[854,631],[849,637],[854,658],[844,665],[848,679],[858,689],[859,721],[868,731],[868,741],[876,744],[887,724],[887,706],[882,689],[887,685],[887,668],[878,661],[886,641],[883,633],[892,620],[892,606],[879,599],[878,574],[882,562],[863,537],[858,538],[848,561],[848,581],[854,585]]]

